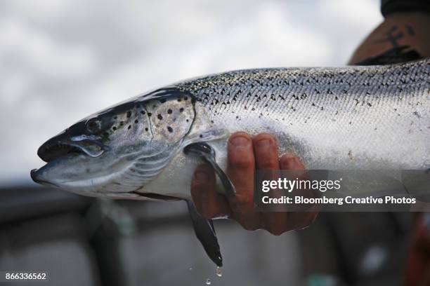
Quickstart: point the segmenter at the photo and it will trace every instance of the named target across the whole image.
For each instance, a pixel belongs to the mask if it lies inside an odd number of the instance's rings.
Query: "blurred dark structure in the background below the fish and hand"
[[[0,189],[0,270],[47,271],[44,285],[400,285],[412,216],[320,213],[308,229],[278,237],[219,220],[219,278],[185,203]]]

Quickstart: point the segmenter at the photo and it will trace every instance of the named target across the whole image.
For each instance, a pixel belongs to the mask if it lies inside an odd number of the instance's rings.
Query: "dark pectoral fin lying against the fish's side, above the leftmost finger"
[[[230,181],[230,179],[227,177],[226,173],[219,168],[219,165],[216,163],[216,157],[215,157],[215,150],[212,149],[209,144],[206,144],[204,142],[197,142],[193,144],[187,145],[183,149],[185,154],[193,154],[195,156],[198,156],[202,158],[203,161],[209,163],[209,165],[214,168],[214,171],[216,175],[221,180],[221,183],[223,184],[224,189],[226,189],[226,194],[228,196],[234,196],[235,186],[233,186],[233,183]]]

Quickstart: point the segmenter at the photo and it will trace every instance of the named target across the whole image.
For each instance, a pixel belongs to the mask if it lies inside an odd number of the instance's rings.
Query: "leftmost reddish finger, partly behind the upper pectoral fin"
[[[191,196],[197,212],[208,219],[230,214],[226,198],[216,192],[215,182],[211,166],[197,166],[191,182]]]

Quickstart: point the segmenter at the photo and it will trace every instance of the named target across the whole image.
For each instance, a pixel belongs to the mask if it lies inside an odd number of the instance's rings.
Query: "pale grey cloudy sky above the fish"
[[[230,69],[344,65],[377,0],[0,1],[0,185],[94,111]]]

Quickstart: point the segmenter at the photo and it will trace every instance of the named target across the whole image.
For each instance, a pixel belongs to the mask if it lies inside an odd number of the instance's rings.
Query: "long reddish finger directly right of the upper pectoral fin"
[[[245,132],[236,132],[228,140],[227,174],[236,189],[228,197],[232,217],[245,229],[259,227],[260,215],[254,212],[254,150],[252,139]]]

